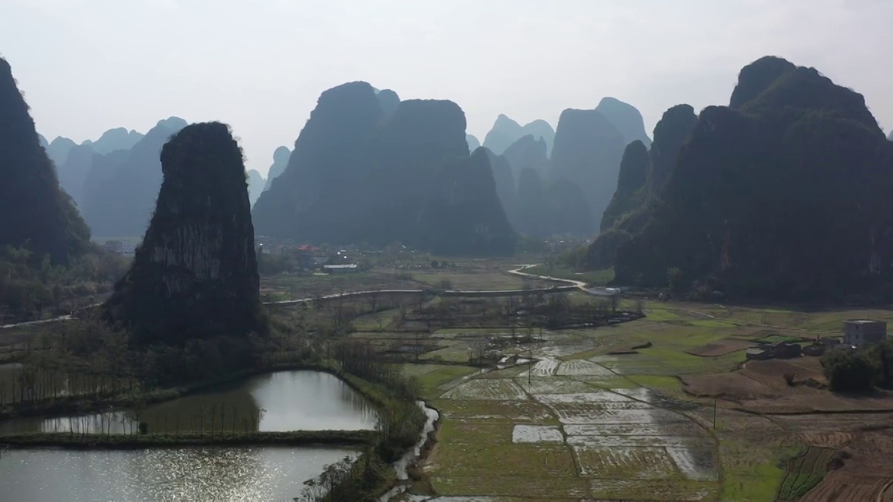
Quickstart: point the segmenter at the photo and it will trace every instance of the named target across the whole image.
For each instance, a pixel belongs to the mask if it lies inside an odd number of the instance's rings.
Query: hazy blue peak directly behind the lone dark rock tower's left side
[[[129,150],[96,155],[83,189],[81,211],[101,237],[136,237],[146,231],[162,183],[159,153],[187,123],[159,121]]]

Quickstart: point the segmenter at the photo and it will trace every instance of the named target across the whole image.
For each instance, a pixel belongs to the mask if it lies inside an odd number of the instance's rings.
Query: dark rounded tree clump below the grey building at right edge
[[[830,350],[822,356],[822,371],[831,390],[893,389],[893,342],[884,340],[855,350]]]

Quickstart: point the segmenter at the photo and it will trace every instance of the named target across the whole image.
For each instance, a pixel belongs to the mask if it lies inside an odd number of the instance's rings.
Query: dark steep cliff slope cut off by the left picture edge
[[[27,246],[63,264],[89,247],[89,230],[59,187],[28,105],[0,58],[0,247]]]

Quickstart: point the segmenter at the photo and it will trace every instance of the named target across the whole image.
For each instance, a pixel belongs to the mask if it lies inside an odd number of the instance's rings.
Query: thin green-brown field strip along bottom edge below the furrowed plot
[[[598,500],[697,502],[715,498],[714,482],[677,480],[591,480],[589,489]]]

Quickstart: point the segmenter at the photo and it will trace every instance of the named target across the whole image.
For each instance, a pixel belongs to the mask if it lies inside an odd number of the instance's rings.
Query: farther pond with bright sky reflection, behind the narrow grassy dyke
[[[326,372],[289,371],[258,375],[202,394],[180,397],[144,410],[25,417],[0,422],[0,435],[20,432],[136,433],[145,422],[152,432],[361,431],[374,429],[371,403]]]

